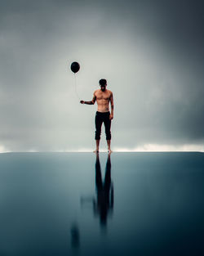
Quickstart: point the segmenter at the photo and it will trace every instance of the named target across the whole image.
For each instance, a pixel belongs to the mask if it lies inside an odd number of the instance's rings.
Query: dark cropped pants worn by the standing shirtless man
[[[104,130],[106,140],[111,140],[110,126],[111,120],[109,119],[110,112],[99,112],[95,113],[95,140],[100,140],[101,126],[104,123]]]

